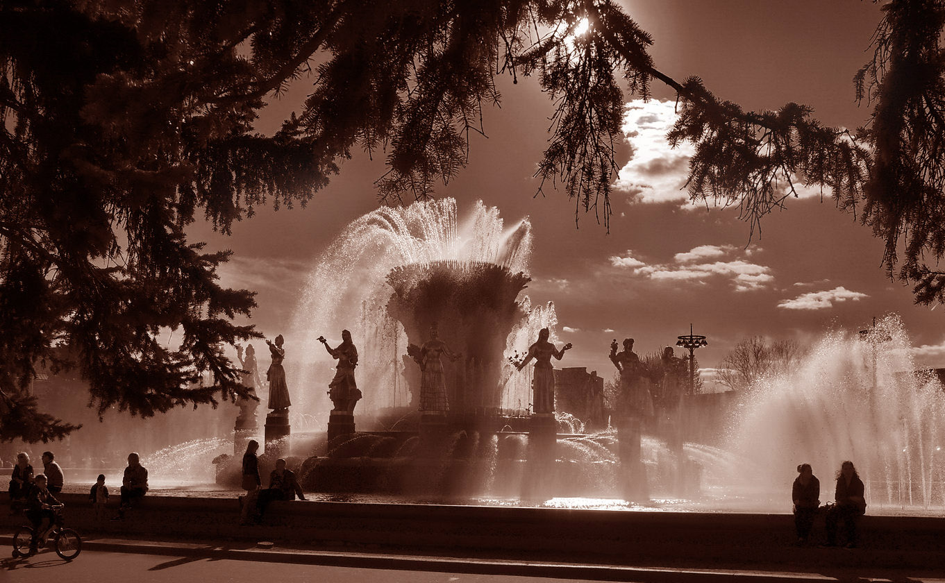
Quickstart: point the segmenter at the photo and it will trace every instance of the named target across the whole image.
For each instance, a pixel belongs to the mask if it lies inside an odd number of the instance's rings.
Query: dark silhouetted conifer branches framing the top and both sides
[[[68,431],[24,391],[60,344],[99,410],[234,398],[222,346],[256,334],[232,323],[254,301],[216,283],[229,254],[202,252],[187,225],[202,215],[229,233],[260,204],[304,205],[355,148],[385,152],[383,201],[428,197],[485,132],[499,75],[538,77],[554,103],[536,176],[576,214],[609,224],[627,94],[656,79],[679,97],[672,143],[696,146],[692,197],[739,205],[753,231],[796,182],[819,185],[885,239],[890,274],[903,246],[917,300],[945,300],[945,272],[923,263],[945,252],[945,0],[884,10],[855,79],[872,122],[851,133],[664,75],[612,0],[0,3],[0,421]],[[298,114],[256,133],[264,99],[313,63]],[[173,349],[159,341],[170,330]],[[187,388],[208,370],[214,386]]]

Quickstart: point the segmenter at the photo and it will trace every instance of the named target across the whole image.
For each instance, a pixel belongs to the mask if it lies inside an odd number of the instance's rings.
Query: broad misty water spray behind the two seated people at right
[[[913,372],[910,346],[889,316],[864,334],[824,334],[796,369],[757,383],[728,446],[747,462],[745,482],[790,484],[807,462],[827,502],[849,459],[871,506],[945,504],[945,392]]]

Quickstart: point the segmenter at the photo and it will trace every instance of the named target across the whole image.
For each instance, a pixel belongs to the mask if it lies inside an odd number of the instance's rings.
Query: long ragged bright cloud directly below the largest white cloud
[[[762,289],[774,282],[771,268],[732,257],[739,253],[733,245],[700,245],[674,256],[674,264],[646,265],[643,261],[633,257],[632,250],[627,249],[626,257],[610,257],[610,265],[633,269],[635,275],[643,275],[651,280],[690,281],[708,283],[720,277],[732,283],[734,290],[752,291]],[[747,251],[745,255],[747,255]],[[706,259],[729,259],[729,261],[714,261],[712,263],[693,263]]]

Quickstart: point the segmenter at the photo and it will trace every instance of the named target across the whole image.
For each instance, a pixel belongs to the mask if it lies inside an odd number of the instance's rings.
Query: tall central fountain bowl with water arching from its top
[[[287,359],[295,362],[286,367],[290,386],[299,387],[293,426],[308,428],[301,426],[305,420],[325,419],[331,407],[322,387],[334,364],[318,335],[334,345],[342,329],[351,330],[364,392],[358,411],[370,413],[415,404],[411,377],[418,373],[405,360],[406,348],[422,344],[434,320],[441,337],[463,352],[448,378],[454,407],[527,407],[521,394],[506,396],[527,387],[509,381],[503,356],[513,346],[522,350],[519,336],[537,335],[557,321],[550,304],[532,309],[530,300],[517,299],[528,282],[531,242],[527,218],[507,228],[498,209],[481,201],[464,220],[455,199],[444,198],[377,209],[353,221],[318,259],[293,318],[295,346]]]

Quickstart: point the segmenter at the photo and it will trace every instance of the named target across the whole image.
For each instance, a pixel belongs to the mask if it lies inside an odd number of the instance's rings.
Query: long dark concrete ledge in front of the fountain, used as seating
[[[625,512],[491,506],[275,502],[241,527],[236,499],[146,496],[122,522],[96,521],[87,498],[63,494],[83,535],[194,541],[277,540],[308,548],[713,569],[914,569],[945,573],[945,519],[867,516],[861,548],[797,548],[789,514]],[[113,501],[115,504],[117,501]],[[113,506],[115,507],[115,506]],[[113,510],[112,510],[113,512]],[[110,513],[111,515],[111,513]],[[12,529],[23,516],[3,513]],[[815,536],[823,536],[818,521]]]

